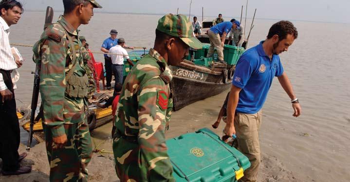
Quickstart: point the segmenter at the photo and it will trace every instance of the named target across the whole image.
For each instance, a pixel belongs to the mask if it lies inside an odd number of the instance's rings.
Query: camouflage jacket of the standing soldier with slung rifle
[[[44,109],[44,124],[51,127],[53,137],[65,133],[63,124],[78,123],[85,118],[83,98],[73,98],[65,94],[66,75],[73,68],[73,51],[66,34],[73,37],[76,51],[74,75],[84,76],[84,62],[78,30],[63,16],[45,29],[33,47],[33,61],[41,64],[40,95]]]

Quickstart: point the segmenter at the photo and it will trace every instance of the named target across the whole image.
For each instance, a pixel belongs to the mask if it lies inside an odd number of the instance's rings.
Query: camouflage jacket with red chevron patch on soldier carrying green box
[[[140,157],[147,166],[144,166],[147,172],[140,174],[143,181],[152,181],[159,176],[174,181],[164,134],[173,107],[171,79],[166,60],[150,49],[149,54],[132,67],[120,95],[116,132],[137,137],[135,149],[140,150]]]

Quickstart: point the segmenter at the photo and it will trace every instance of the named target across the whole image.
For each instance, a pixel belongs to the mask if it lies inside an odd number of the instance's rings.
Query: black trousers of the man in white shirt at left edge
[[[15,171],[19,168],[19,123],[16,112],[16,100],[13,90],[10,71],[0,70],[8,90],[12,91],[13,98],[2,103],[0,94],[0,158],[3,171]]]

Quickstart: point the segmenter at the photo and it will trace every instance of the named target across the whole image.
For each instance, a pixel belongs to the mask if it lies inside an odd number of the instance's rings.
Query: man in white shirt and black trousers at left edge
[[[0,158],[2,174],[18,175],[29,173],[30,166],[19,166],[27,156],[18,155],[20,141],[19,123],[16,112],[16,100],[11,72],[22,63],[15,60],[9,41],[10,26],[17,24],[23,13],[22,4],[16,0],[0,2]]]

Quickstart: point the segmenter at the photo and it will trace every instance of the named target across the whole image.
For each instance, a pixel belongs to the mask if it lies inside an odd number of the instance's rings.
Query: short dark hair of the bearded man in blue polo
[[[273,24],[269,30],[267,38],[272,38],[274,35],[277,35],[279,40],[283,40],[287,37],[288,34],[291,34],[296,39],[298,37],[298,31],[292,22],[287,20],[278,21]]]

